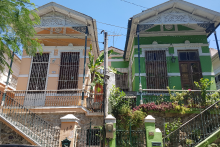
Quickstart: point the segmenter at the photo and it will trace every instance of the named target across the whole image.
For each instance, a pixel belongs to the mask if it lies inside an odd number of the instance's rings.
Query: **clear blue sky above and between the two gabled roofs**
[[[127,27],[128,19],[135,14],[146,10],[147,8],[154,7],[168,0],[126,0],[131,3],[135,3],[140,6],[135,6],[130,3],[126,3],[123,0],[53,0],[58,4],[61,4],[70,9],[84,13],[93,17],[97,21],[98,39],[103,42],[103,35],[100,34],[104,29],[109,35],[122,35],[115,37],[114,46],[124,50],[127,30],[124,28],[105,25],[99,22],[112,24],[121,27]],[[220,0],[185,0],[196,5],[206,7],[208,9],[220,12]],[[38,6],[42,6],[51,0],[31,0]],[[145,8],[143,8],[145,7]],[[220,40],[220,27],[217,29],[218,40]],[[212,34],[208,41],[210,41],[210,47],[216,48],[215,38]],[[219,41],[220,43],[220,41]],[[109,36],[108,46],[113,46],[113,37]],[[103,44],[99,44],[100,50],[103,49]]]

